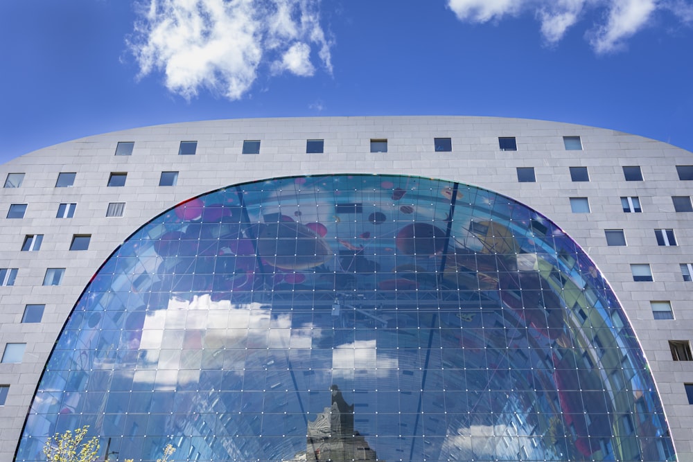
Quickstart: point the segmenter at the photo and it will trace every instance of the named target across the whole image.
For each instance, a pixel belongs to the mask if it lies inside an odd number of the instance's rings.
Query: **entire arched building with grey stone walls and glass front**
[[[207,121],[1,166],[0,462],[692,461],[693,155]]]

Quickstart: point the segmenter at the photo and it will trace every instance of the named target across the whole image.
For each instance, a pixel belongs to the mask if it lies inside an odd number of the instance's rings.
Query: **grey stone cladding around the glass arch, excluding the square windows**
[[[500,150],[514,136],[516,151]],[[579,136],[582,150],[566,150],[563,136]],[[450,138],[436,152],[434,138]],[[324,139],[324,152],[306,154],[306,140]],[[387,139],[387,152],[370,152]],[[244,140],[260,140],[259,154],[242,154]],[[116,156],[119,142],[132,155]],[[181,141],[197,141],[195,155],[178,155]],[[517,199],[543,213],[583,247],[617,294],[656,380],[678,459],[693,460],[693,406],[684,384],[693,361],[674,361],[669,340],[693,337],[693,282],[681,263],[693,263],[693,213],[674,211],[672,196],[691,195],[693,181],[676,166],[693,154],[667,143],[582,125],[519,118],[463,116],[272,118],[202,121],[87,136],[31,152],[0,166],[24,173],[19,188],[0,188],[0,267],[18,268],[15,284],[0,287],[0,350],[24,343],[21,363],[0,364],[9,385],[0,407],[0,462],[14,456],[37,381],[74,303],[101,263],[131,233],[179,202],[210,190],[290,175],[383,173],[460,181]],[[571,181],[570,167],[590,181]],[[642,181],[626,181],[623,166],[640,166]],[[518,182],[516,168],[532,167],[535,182]],[[162,171],[177,171],[175,186],[159,186]],[[60,172],[73,186],[56,188]],[[112,172],[125,186],[108,187]],[[572,213],[570,198],[586,197],[589,213]],[[624,213],[621,197],[638,197],[642,213]],[[124,202],[122,217],[106,217]],[[61,203],[76,204],[58,218]],[[6,218],[10,204],[27,204],[23,218]],[[610,247],[604,230],[623,230],[626,246]],[[673,229],[678,245],[659,246],[655,229]],[[21,251],[26,236],[44,236],[40,251]],[[74,235],[91,235],[88,250],[70,251]],[[631,264],[647,263],[653,281],[633,281]],[[62,283],[44,286],[47,268],[65,268]],[[653,318],[651,301],[670,301],[672,320]],[[45,304],[40,323],[22,323],[25,305]]]

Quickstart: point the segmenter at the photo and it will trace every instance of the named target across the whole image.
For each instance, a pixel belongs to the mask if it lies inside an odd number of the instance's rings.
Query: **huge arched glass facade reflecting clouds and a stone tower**
[[[87,286],[17,450],[82,425],[110,460],[674,460],[613,292],[561,229],[450,181],[230,186]]]

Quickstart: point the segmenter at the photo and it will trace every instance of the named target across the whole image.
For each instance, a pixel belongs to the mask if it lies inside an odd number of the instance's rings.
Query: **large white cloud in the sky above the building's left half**
[[[263,64],[310,76],[312,48],[332,72],[331,43],[319,23],[322,0],[142,0],[128,45],[140,77],[164,73],[184,98],[208,89],[242,98]]]

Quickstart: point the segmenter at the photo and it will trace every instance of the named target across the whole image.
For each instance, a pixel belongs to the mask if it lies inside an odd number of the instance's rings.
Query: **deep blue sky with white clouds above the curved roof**
[[[692,0],[4,0],[0,161],[214,118],[477,115],[693,150]]]

